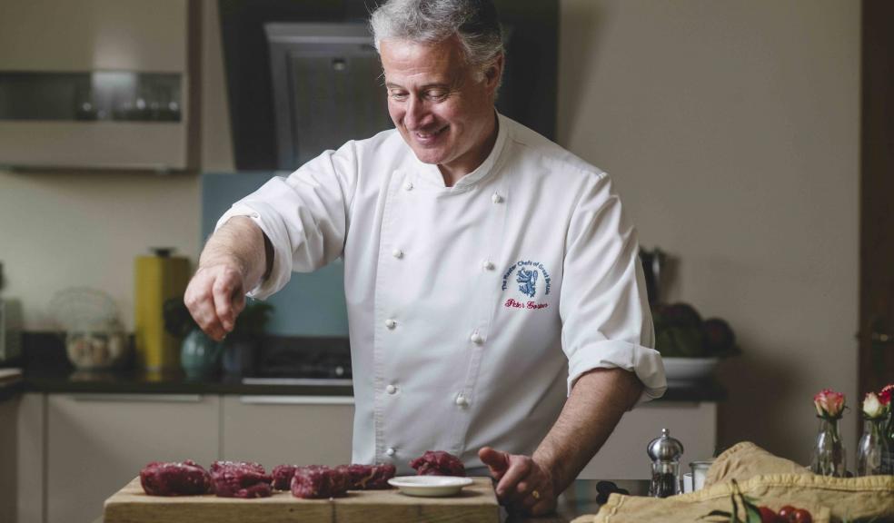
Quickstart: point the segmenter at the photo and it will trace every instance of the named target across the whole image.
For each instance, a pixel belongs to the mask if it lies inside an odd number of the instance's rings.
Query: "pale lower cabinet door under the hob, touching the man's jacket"
[[[353,398],[224,396],[224,459],[276,465],[351,462]]]

